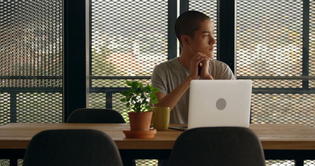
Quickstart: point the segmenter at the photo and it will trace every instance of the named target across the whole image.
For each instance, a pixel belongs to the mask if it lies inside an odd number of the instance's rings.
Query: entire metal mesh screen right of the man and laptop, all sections
[[[314,44],[311,44],[314,41],[313,14],[314,1],[311,0],[310,75],[315,71]],[[238,0],[237,76],[301,76],[302,30],[303,0]],[[268,88],[283,92],[275,93]],[[285,88],[302,88],[302,80],[253,79],[251,122],[315,127],[315,94],[290,93]],[[312,162],[304,161],[304,165]],[[294,160],[266,160],[266,165],[290,166],[294,165]]]

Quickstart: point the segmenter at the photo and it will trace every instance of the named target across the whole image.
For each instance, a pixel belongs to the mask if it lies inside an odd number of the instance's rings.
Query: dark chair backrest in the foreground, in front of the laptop
[[[183,132],[175,141],[169,166],[265,166],[261,142],[242,127],[202,127]]]

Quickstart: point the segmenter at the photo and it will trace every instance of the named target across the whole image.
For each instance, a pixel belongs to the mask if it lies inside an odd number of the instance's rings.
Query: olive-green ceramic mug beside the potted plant
[[[151,110],[153,128],[159,131],[167,130],[169,128],[169,107],[151,107]]]

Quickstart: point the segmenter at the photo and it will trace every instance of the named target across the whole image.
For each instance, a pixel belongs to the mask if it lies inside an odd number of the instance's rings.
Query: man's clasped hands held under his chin
[[[203,53],[195,53],[194,57],[190,61],[190,73],[189,78],[192,80],[198,79],[198,76],[203,80],[213,80],[212,76],[209,74],[209,57]],[[202,63],[202,66],[200,66]]]

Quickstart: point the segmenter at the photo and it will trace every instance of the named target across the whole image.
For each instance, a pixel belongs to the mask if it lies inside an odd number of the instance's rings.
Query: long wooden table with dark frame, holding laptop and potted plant
[[[43,130],[95,129],[111,136],[123,157],[167,159],[182,133],[169,129],[157,131],[154,138],[131,139],[124,136],[125,128],[129,124],[10,123],[0,126],[0,158],[23,158],[31,138]],[[295,159],[297,165],[315,159],[315,128],[302,124],[250,124],[249,128],[258,135],[266,159]]]

